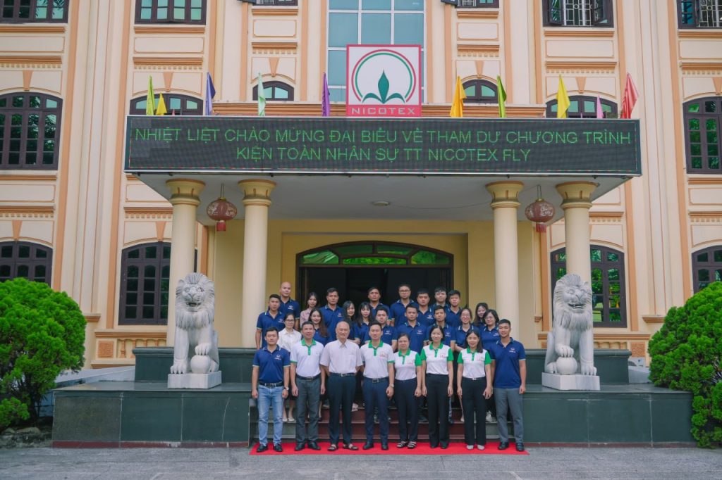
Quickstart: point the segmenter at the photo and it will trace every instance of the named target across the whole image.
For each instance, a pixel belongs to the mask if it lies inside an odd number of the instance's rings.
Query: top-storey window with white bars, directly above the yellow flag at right
[[[612,27],[611,0],[543,0],[544,25]]]

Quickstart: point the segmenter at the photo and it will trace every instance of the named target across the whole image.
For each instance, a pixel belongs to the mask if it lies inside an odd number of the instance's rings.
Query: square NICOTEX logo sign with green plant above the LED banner
[[[347,117],[420,117],[420,45],[347,45]]]

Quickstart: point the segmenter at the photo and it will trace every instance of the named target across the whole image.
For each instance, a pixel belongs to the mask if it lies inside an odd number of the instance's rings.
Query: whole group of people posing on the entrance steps
[[[351,422],[358,390],[365,408],[364,450],[374,447],[376,420],[381,449],[388,450],[391,401],[399,414],[396,448],[417,447],[424,404],[430,447],[448,448],[455,396],[461,403],[466,448],[484,450],[492,412],[497,417],[498,448],[508,448],[510,411],[516,450],[524,450],[524,347],[510,336],[510,321],[499,319],[486,303],[472,312],[461,306],[458,290],[441,287],[434,290],[435,303],[425,289],[417,290],[413,301],[410,286],[402,284],[391,306],[381,303],[376,287],[368,289],[368,301],[358,309],[349,301],[339,306],[338,290],[329,288],[325,306],[319,308],[318,295],[310,293],[302,311],[290,297],[291,289],[290,283],[282,283],[256,323],[251,395],[258,400],[259,453],[269,449],[271,405],[274,450],[283,451],[285,421],[295,421],[295,450],[321,450],[318,421],[323,397],[329,401],[329,451],[359,450],[352,443]]]

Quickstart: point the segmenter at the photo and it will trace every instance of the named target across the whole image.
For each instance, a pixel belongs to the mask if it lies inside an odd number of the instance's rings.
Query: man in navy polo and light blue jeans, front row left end
[[[266,329],[266,347],[253,355],[251,396],[258,400],[258,453],[269,449],[269,407],[273,404],[273,449],[282,452],[283,401],[288,396],[291,361],[287,350],[278,346],[278,329]]]

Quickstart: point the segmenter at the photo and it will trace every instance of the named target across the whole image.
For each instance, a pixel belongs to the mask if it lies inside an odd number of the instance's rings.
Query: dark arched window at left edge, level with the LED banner
[[[17,99],[22,97],[22,106],[14,106]],[[31,107],[31,102],[40,102],[39,107]],[[55,107],[48,107],[48,102],[55,102]],[[61,133],[61,120],[63,111],[63,100],[53,95],[40,94],[36,92],[11,92],[8,94],[0,95],[0,170],[19,170],[19,169],[32,169],[32,170],[57,170],[58,169],[58,157],[60,155],[60,133]],[[21,123],[13,124],[15,117],[21,116]],[[29,137],[30,125],[28,119],[31,115],[37,115],[37,133],[36,137]],[[45,119],[48,115],[55,115],[55,130],[53,131],[53,137],[45,137],[46,125]],[[17,128],[19,128],[19,137],[17,135]],[[35,142],[35,163],[28,164],[28,148],[31,142]],[[52,163],[43,163],[46,156],[51,154],[51,151],[45,151],[45,146],[48,142],[53,143],[52,150]],[[17,142],[17,143],[14,143]],[[11,148],[17,147],[18,149],[11,150]],[[43,150],[38,150],[43,148]],[[17,163],[10,163],[11,155],[17,154],[15,159]],[[30,150],[32,154],[32,149]],[[32,158],[32,157],[31,157]],[[49,158],[49,157],[48,157]]]

